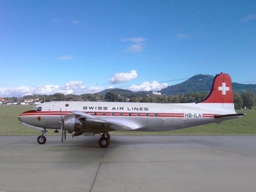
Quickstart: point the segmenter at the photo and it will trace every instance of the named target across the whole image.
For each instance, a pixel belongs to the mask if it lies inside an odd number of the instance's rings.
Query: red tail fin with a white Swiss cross
[[[200,103],[234,103],[230,76],[222,72],[216,75],[210,94]]]

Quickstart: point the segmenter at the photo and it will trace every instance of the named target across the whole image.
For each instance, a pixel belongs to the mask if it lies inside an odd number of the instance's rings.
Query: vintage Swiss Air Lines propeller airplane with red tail
[[[134,103],[54,101],[36,105],[21,113],[23,125],[41,130],[39,144],[46,142],[47,129],[73,136],[100,134],[99,145],[107,148],[110,131],[167,131],[242,117],[234,110],[232,82],[228,74],[214,77],[209,95],[194,103]]]

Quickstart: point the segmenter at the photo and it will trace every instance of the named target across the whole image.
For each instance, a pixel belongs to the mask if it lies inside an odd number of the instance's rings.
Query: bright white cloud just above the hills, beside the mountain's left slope
[[[166,88],[168,86],[167,83],[160,84],[157,81],[153,82],[144,82],[140,85],[132,85],[128,87],[127,89],[133,92],[138,92],[138,91],[157,91],[162,88]]]

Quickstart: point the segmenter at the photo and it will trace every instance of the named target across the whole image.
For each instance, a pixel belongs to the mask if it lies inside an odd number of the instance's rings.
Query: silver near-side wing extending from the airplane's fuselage
[[[78,120],[86,128],[101,129],[101,130],[103,129],[106,131],[110,131],[110,130],[120,130],[120,131],[126,130],[127,131],[127,130],[132,130],[138,127],[138,125],[134,124],[133,122],[126,122],[124,120],[114,121],[111,118],[108,118],[109,120],[104,120],[81,111],[74,111],[73,114],[81,116],[80,118],[78,118]]]

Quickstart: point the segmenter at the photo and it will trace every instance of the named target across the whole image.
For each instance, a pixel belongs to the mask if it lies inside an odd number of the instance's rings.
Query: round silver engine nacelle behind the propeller
[[[76,114],[68,114],[64,116],[63,120],[63,128],[64,130],[67,130],[68,132],[80,132],[80,128],[77,128],[76,126],[83,126],[81,122],[78,120],[80,118],[80,115]]]

